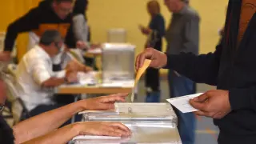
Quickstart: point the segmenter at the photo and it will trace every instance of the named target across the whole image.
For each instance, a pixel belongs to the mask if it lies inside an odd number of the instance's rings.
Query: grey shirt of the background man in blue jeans
[[[167,54],[179,54],[181,52],[192,52],[193,54],[198,54],[198,34],[189,35],[189,38],[194,39],[187,39],[188,36],[186,35],[186,31],[184,31],[195,27],[194,22],[192,21],[199,22],[200,17],[198,12],[190,6],[185,6],[180,12],[173,13],[170,26],[168,26],[166,30]],[[185,25],[186,23],[189,23],[190,25]],[[196,32],[198,29],[192,29],[192,31]],[[190,46],[184,46],[186,41],[190,41]]]

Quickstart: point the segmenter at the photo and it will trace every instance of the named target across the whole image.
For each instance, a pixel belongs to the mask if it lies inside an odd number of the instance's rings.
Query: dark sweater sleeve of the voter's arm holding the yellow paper
[[[214,53],[198,56],[192,53],[169,54],[166,68],[176,70],[194,82],[216,86],[221,54],[222,42]]]

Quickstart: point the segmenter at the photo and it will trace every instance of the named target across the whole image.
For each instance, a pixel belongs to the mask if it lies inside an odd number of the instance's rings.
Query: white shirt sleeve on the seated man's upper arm
[[[32,75],[34,81],[38,83],[38,85],[42,86],[43,82],[50,79],[52,74],[50,73],[50,66],[47,64],[47,61],[43,59],[34,59],[34,62],[30,63]]]

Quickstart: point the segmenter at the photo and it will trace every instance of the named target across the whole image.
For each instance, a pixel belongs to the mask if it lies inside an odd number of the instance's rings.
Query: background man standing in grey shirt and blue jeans
[[[198,13],[189,6],[188,0],[165,0],[172,13],[170,26],[166,30],[167,54],[191,52],[198,54]],[[170,98],[196,93],[196,86],[189,78],[170,70],[168,74]],[[178,130],[183,144],[194,144],[196,120],[193,113],[183,114],[174,109],[178,116]]]

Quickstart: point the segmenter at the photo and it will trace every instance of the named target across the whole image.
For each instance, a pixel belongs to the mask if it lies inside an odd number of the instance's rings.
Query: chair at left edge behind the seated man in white
[[[4,72],[0,72],[0,77],[6,83],[7,86],[7,107],[9,108],[10,115],[5,118],[14,119],[14,124],[19,122],[21,118],[24,116],[29,116],[29,111],[26,109],[26,106],[21,98],[18,97],[18,92],[15,88],[15,77],[13,74],[6,74]]]

